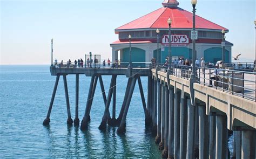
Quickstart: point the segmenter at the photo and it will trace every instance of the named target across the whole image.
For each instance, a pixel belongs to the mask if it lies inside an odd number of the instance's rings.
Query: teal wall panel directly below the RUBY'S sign
[[[164,51],[159,49],[159,53],[161,53],[161,63],[165,63],[165,58],[169,54],[169,47],[165,47]],[[157,50],[154,50],[153,56],[157,59]],[[192,59],[192,49],[187,47],[171,47],[171,56],[184,56],[184,59]]]

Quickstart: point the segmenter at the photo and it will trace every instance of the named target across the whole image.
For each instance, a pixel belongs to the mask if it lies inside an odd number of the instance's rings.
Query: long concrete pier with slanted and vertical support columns
[[[146,67],[70,68],[50,67],[51,75],[56,76],[55,87],[46,119],[43,125],[49,125],[50,114],[55,99],[60,76],[63,77],[68,125],[80,125],[86,131],[90,121],[90,111],[99,82],[105,103],[104,115],[99,125],[118,127],[117,134],[125,134],[125,121],[136,82],[139,85],[145,125],[151,128],[156,144],[162,150],[162,156],[168,158],[227,158],[228,131],[234,133],[234,156],[237,158],[255,158],[256,109],[255,109],[255,72],[222,70],[220,79],[209,84],[212,68],[197,68],[197,80],[191,82],[191,68],[172,66],[166,68],[145,64]],[[241,75],[241,78],[238,77]],[[67,75],[76,75],[76,116],[73,122],[70,113]],[[82,121],[78,115],[79,76],[91,78],[89,94]],[[103,75],[110,75],[110,86],[104,86]],[[128,79],[122,105],[116,105],[116,79],[125,75]],[[140,77],[148,77],[147,100]],[[253,80],[254,79],[254,80]],[[236,81],[236,82],[235,82]],[[240,82],[239,82],[240,81]],[[210,87],[209,87],[210,86]],[[125,86],[124,86],[125,87]],[[105,93],[109,89],[109,93]],[[236,91],[235,89],[241,89]],[[109,112],[112,101],[112,115]],[[116,107],[121,107],[119,114]],[[93,122],[93,121],[92,121]]]

